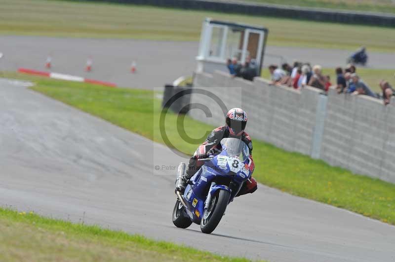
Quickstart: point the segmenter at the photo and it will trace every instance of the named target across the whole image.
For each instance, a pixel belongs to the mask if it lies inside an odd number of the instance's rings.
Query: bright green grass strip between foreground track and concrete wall
[[[17,73],[7,77],[25,78]],[[127,130],[163,143],[158,117],[161,101],[152,91],[112,89],[84,83],[27,77],[37,83],[33,90],[99,116]],[[144,121],[132,121],[144,119]],[[177,116],[166,117],[166,132],[175,147],[192,154],[195,144],[180,138]],[[212,126],[185,117],[187,133],[201,137]],[[247,128],[248,131],[248,128]],[[261,183],[293,195],[307,197],[342,207],[395,225],[395,185],[313,160],[299,153],[287,152],[268,143],[254,140],[254,177]]]

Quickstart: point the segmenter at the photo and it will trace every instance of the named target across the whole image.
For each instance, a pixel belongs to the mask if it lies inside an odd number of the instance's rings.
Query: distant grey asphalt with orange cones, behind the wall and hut
[[[45,70],[52,57],[51,70],[96,80],[114,82],[122,87],[163,87],[183,75],[192,75],[196,63],[197,42],[148,41],[131,39],[79,39],[40,36],[0,36],[0,70],[28,67]],[[294,60],[323,67],[344,66],[348,50],[268,46],[264,65]],[[84,67],[93,60],[91,72]],[[281,59],[282,58],[282,59]],[[132,61],[136,73],[130,73]],[[395,53],[369,52],[368,67],[394,68]]]

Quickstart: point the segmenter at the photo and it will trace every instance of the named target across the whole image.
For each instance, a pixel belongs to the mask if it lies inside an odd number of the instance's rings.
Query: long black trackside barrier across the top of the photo
[[[395,15],[225,0],[75,0],[155,5],[256,16],[284,17],[344,24],[395,27]]]

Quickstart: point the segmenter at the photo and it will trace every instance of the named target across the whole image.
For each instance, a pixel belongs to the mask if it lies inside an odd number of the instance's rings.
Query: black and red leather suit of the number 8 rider
[[[249,154],[250,154],[249,155],[250,161],[248,163],[248,167],[250,172],[253,172],[255,165],[252,159],[252,141],[250,136],[245,131],[242,131],[242,133],[239,135],[232,135],[231,132],[229,131],[228,126],[222,126],[211,131],[211,133],[207,136],[206,140],[197,148],[194,156],[192,156],[191,159],[189,160],[189,165],[187,169],[187,178],[188,179],[191,178],[204,164],[203,161],[199,161],[197,159],[198,156],[203,156],[204,158],[205,156],[210,154],[217,155],[222,152],[222,146],[220,142],[223,138],[228,138],[228,137],[240,138],[240,136],[241,136],[241,140],[248,146]],[[253,193],[255,190],[257,190],[257,183],[256,180],[251,177],[250,181],[247,180],[244,182],[237,196],[241,196],[247,193]]]

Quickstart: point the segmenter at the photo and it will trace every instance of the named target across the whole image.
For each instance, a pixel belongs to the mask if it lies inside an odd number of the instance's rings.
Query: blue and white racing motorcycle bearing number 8
[[[204,164],[188,181],[184,194],[175,190],[173,224],[177,228],[185,229],[196,223],[203,233],[214,231],[228,204],[250,179],[248,146],[238,138],[223,138],[221,145],[220,154],[199,159]],[[185,172],[186,164],[180,163],[176,183],[184,179]]]

